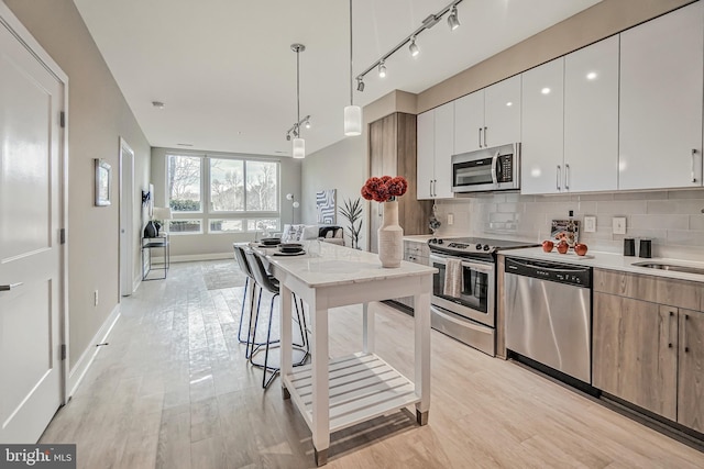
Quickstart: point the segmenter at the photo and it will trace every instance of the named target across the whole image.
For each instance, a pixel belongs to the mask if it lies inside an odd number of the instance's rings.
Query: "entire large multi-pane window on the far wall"
[[[278,161],[167,155],[166,166],[172,234],[280,230]],[[202,213],[205,220],[179,213]]]

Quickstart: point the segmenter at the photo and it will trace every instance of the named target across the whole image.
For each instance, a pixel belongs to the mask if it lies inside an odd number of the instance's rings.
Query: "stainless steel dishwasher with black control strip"
[[[506,348],[592,383],[592,269],[506,258]]]

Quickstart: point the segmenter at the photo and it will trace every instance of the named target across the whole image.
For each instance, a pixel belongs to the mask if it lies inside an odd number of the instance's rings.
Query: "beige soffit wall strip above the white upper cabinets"
[[[418,94],[417,113],[537,67],[694,0],[602,0]]]

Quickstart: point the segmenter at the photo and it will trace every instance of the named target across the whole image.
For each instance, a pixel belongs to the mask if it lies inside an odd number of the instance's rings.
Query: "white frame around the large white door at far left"
[[[24,27],[20,20],[14,15],[12,10],[0,0],[0,23],[10,31],[10,33],[16,37],[16,40],[32,54],[43,66],[48,70],[64,87],[63,109],[57,109],[56,112],[63,112],[63,125],[61,125],[59,137],[59,226],[54,236],[54,242],[59,246],[59,311],[58,311],[58,325],[59,336],[62,337],[62,344],[54,345],[54,353],[61,356],[62,349],[66,355],[63,360],[59,360],[62,369],[59,375],[62,377],[61,386],[61,402],[62,405],[66,404],[68,397],[68,372],[70,362],[70,347],[69,347],[69,325],[68,325],[68,76],[62,70],[56,62],[48,55],[48,53],[40,45],[40,43],[32,36],[30,31]],[[57,116],[62,119],[62,116]],[[63,233],[63,243],[62,243]],[[64,348],[65,347],[65,348]]]

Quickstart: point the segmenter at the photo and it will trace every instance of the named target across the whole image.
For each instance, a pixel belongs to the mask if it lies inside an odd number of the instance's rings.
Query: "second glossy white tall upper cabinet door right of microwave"
[[[618,189],[618,36],[564,57],[562,191]]]

